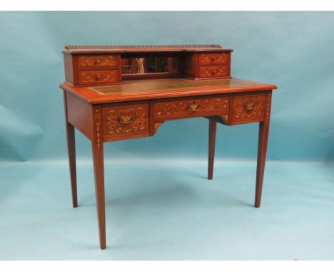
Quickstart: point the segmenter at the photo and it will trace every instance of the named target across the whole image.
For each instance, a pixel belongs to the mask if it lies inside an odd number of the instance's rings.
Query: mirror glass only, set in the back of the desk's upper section
[[[122,74],[178,73],[176,57],[122,58]]]

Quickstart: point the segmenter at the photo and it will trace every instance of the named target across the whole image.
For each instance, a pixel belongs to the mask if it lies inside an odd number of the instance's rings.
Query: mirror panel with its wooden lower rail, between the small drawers
[[[121,59],[122,78],[165,78],[178,75],[178,57],[125,57]]]

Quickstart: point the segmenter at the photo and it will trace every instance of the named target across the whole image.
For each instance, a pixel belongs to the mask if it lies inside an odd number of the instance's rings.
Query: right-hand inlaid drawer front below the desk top
[[[235,95],[232,98],[232,122],[258,122],[265,115],[265,93]]]

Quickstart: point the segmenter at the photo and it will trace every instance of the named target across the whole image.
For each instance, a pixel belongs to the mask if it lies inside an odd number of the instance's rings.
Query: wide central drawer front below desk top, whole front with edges
[[[228,96],[168,100],[154,103],[155,120],[210,116],[228,113]]]

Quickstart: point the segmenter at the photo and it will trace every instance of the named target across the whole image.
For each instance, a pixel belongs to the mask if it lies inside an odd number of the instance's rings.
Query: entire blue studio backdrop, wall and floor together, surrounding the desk
[[[98,247],[91,143],[76,133],[71,207],[65,45],[218,43],[235,78],[273,90],[260,209],[258,124],[163,123],[108,142],[107,249]],[[0,12],[1,260],[334,260],[334,12]]]

